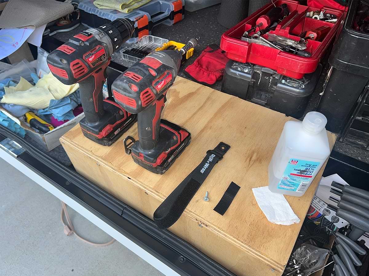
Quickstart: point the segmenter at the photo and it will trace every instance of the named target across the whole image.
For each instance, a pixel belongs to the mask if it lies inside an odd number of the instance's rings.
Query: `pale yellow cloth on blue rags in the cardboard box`
[[[21,77],[16,86],[4,87],[5,95],[1,103],[14,103],[33,109],[44,109],[49,106],[50,100],[60,100],[79,88],[79,84],[62,84],[51,73],[44,75],[33,86]]]

